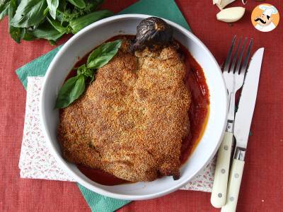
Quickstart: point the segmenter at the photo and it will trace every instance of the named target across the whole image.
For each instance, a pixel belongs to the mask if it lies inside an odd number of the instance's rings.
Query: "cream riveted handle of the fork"
[[[223,141],[218,150],[215,167],[214,182],[212,187],[212,206],[221,208],[226,202],[227,182],[229,177],[229,164],[231,157],[233,134],[225,132]]]

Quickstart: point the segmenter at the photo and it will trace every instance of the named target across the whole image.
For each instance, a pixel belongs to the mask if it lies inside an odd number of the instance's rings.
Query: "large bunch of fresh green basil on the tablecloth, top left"
[[[13,40],[46,39],[55,44],[64,34],[79,30],[102,18],[108,10],[96,11],[103,0],[0,0],[0,20],[8,16]]]

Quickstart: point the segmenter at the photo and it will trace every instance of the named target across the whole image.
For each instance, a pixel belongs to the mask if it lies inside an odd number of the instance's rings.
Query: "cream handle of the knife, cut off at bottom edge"
[[[236,211],[244,165],[245,165],[245,161],[233,159],[233,163],[229,175],[226,204],[221,208],[221,212]]]

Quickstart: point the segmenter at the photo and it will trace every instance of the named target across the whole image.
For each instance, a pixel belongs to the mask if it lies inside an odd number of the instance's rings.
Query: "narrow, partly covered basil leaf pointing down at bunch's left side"
[[[21,28],[15,28],[13,27],[13,25],[11,25],[11,20],[13,18],[13,15],[16,13],[16,9],[18,7],[18,1],[17,0],[11,0],[9,7],[8,7],[8,20],[9,20],[9,24],[8,24],[8,30],[9,30],[9,34],[11,35],[11,37],[13,38],[13,40],[15,40],[16,42],[20,42],[21,41]]]

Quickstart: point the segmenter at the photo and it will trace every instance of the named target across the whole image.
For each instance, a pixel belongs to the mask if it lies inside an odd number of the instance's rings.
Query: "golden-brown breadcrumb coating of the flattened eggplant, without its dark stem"
[[[64,158],[132,182],[180,177],[190,130],[190,91],[175,47],[132,54],[129,43],[98,69],[96,81],[60,112]]]

